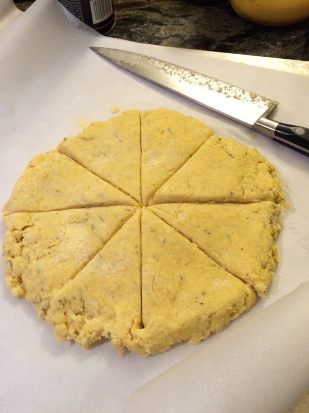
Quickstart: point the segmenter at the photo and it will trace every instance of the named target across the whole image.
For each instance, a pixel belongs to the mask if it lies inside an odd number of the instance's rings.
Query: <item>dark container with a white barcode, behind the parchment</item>
[[[101,34],[111,32],[115,26],[113,0],[59,0],[79,20]]]

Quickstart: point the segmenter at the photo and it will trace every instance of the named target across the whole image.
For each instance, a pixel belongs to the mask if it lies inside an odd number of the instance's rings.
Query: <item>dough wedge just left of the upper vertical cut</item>
[[[66,138],[58,150],[141,203],[140,117],[126,110]]]

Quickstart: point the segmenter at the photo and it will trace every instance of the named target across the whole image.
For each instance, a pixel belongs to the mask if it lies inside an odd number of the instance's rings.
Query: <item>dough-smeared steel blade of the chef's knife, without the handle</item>
[[[91,49],[117,66],[249,127],[278,105],[272,99],[151,56],[110,48]]]

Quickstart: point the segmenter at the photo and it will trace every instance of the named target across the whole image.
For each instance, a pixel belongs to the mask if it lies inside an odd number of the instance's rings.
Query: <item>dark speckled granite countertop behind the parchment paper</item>
[[[21,10],[33,0],[15,0]],[[112,37],[215,52],[309,61],[309,21],[262,27],[242,20],[228,0],[114,0]]]

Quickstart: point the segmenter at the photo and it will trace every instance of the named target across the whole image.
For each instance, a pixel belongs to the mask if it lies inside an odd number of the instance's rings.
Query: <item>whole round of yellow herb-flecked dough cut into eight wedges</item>
[[[255,149],[175,111],[125,111],[29,162],[3,208],[7,284],[59,342],[196,344],[265,296],[283,201]]]

